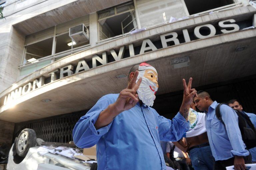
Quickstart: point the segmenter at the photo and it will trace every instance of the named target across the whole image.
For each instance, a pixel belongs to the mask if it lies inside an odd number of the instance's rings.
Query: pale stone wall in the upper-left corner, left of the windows
[[[0,91],[15,83],[19,72],[18,65],[25,35],[19,33],[13,25],[73,1],[9,0],[6,2],[3,10],[5,19],[0,20]]]

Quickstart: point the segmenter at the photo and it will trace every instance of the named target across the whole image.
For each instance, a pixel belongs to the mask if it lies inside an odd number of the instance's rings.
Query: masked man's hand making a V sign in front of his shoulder
[[[119,93],[119,96],[116,102],[113,103],[117,113],[121,113],[122,111],[129,110],[130,108],[134,107],[136,103],[139,101],[138,94],[136,94],[136,91],[140,86],[142,78],[140,78],[136,83],[138,74],[139,72],[136,71],[132,80],[128,84],[127,88],[123,89]]]

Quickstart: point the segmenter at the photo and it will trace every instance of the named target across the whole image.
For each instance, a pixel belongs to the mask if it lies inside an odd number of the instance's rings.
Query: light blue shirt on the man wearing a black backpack
[[[205,126],[209,139],[212,155],[215,160],[226,160],[236,156],[247,156],[249,151],[245,149],[242,135],[238,126],[238,116],[235,111],[223,104],[220,106],[220,114],[225,125],[216,117],[214,101],[206,113]]]

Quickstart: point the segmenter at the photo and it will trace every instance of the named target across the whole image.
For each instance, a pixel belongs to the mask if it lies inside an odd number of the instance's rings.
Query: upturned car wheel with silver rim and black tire
[[[33,129],[23,129],[16,143],[16,152],[19,156],[25,157],[29,148],[36,146],[36,132]]]

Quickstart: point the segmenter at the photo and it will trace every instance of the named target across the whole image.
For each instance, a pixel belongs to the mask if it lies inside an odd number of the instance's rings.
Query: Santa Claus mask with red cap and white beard
[[[147,106],[153,106],[156,98],[155,93],[158,89],[156,69],[147,63],[141,63],[139,66],[139,78],[142,78],[140,87],[137,90],[139,99]],[[136,82],[137,82],[136,81]]]

